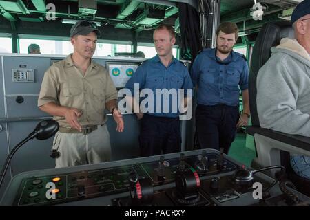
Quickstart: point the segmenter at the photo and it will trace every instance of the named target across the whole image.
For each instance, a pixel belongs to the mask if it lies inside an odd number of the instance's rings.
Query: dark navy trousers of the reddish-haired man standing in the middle
[[[156,117],[145,114],[141,119],[139,136],[142,157],[181,150],[179,118]]]

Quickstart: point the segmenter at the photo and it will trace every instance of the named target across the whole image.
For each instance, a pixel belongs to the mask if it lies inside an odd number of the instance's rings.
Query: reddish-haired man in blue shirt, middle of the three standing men
[[[172,56],[172,47],[176,43],[174,28],[160,25],[154,30],[153,37],[157,55],[138,67],[126,84],[126,88],[130,89],[132,94],[134,84],[142,89],[141,93],[151,91],[154,94],[153,97],[148,95],[141,100],[141,107],[135,112],[138,120],[141,120],[139,137],[141,156],[158,155],[161,151],[163,153],[180,151],[178,107],[180,104],[186,105],[187,98],[180,98],[178,91],[185,89],[186,96],[186,89],[193,88],[187,68]],[[150,102],[143,109],[143,102],[147,99]],[[139,100],[130,97],[130,101],[136,105]]]

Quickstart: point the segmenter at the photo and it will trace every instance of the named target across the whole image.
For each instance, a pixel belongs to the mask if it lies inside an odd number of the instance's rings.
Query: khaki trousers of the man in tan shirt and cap
[[[106,124],[98,125],[98,129],[87,135],[57,132],[52,148],[60,153],[56,158],[56,168],[97,164],[111,159],[110,134]]]

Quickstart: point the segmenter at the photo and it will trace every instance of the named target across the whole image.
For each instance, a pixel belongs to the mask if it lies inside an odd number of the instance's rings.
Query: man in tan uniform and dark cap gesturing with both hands
[[[70,30],[73,54],[52,65],[43,78],[38,106],[54,115],[60,125],[53,143],[53,150],[59,152],[56,168],[110,160],[105,109],[112,113],[116,130],[124,129],[110,75],[91,59],[100,35],[93,22],[79,21],[73,25]]]

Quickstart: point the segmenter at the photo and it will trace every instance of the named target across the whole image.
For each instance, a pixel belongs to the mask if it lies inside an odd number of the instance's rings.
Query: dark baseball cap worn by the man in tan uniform
[[[96,23],[93,21],[78,21],[76,22],[71,30],[70,30],[70,37],[74,35],[87,35],[90,32],[95,32],[97,36],[101,36],[100,30],[97,28]]]

